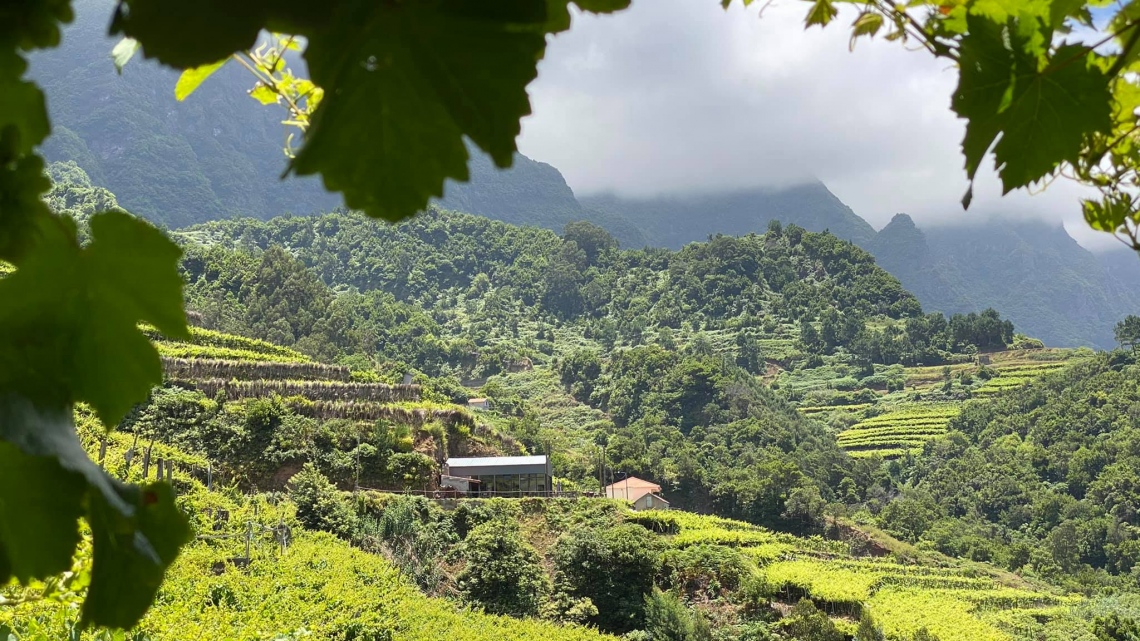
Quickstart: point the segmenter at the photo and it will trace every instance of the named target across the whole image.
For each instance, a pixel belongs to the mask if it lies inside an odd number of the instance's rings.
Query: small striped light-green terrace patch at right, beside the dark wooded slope
[[[852,456],[902,456],[921,451],[933,438],[946,433],[958,405],[915,405],[856,423],[839,433],[839,447]]]

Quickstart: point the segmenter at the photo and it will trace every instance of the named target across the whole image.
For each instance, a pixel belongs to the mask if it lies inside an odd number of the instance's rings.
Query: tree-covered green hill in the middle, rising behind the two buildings
[[[797,486],[826,492],[831,477],[860,473],[759,384],[766,358],[803,358],[799,325],[833,306],[852,332],[920,311],[865,252],[796,227],[679,252],[620,252],[588,225],[559,237],[439,211],[400,226],[328,214],[178,235],[207,324],[326,359],[402,363],[455,381],[459,401],[474,393],[459,381],[483,386],[503,429],[554,445],[570,478],[589,478],[589,448],[612,433],[627,468],[671,478],[678,502],[715,495],[757,522],[784,522],[781,496]],[[562,429],[523,409],[559,395],[578,415],[596,412],[592,422]],[[741,460],[759,468],[733,469]],[[782,489],[759,482],[764,465],[781,470]]]

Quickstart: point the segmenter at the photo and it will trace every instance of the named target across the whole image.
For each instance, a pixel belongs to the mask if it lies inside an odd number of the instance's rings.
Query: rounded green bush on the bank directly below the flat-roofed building
[[[463,558],[457,583],[465,601],[496,615],[538,615],[551,584],[518,522],[495,519],[475,527],[463,542]]]

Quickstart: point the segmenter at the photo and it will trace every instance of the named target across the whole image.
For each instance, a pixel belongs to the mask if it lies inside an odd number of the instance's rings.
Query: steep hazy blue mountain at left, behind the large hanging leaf
[[[332,210],[342,201],[319,180],[279,180],[284,111],[246,94],[255,79],[230,64],[187,100],[174,99],[178,73],[136,57],[115,73],[109,0],[78,0],[63,44],[32,56],[31,76],[52,96],[49,161],[73,161],[122,206],[166,227],[234,217],[271,218]],[[479,154],[473,182],[449,184],[449,209],[561,229],[581,218],[557,170],[518,156],[500,172]]]

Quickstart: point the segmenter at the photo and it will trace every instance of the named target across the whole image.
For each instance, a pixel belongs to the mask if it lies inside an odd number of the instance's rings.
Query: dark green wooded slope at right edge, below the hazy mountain
[[[1100,355],[967,404],[880,519],[947,554],[1031,567],[1072,587],[1125,581],[1140,568],[1138,427],[1134,355]]]

